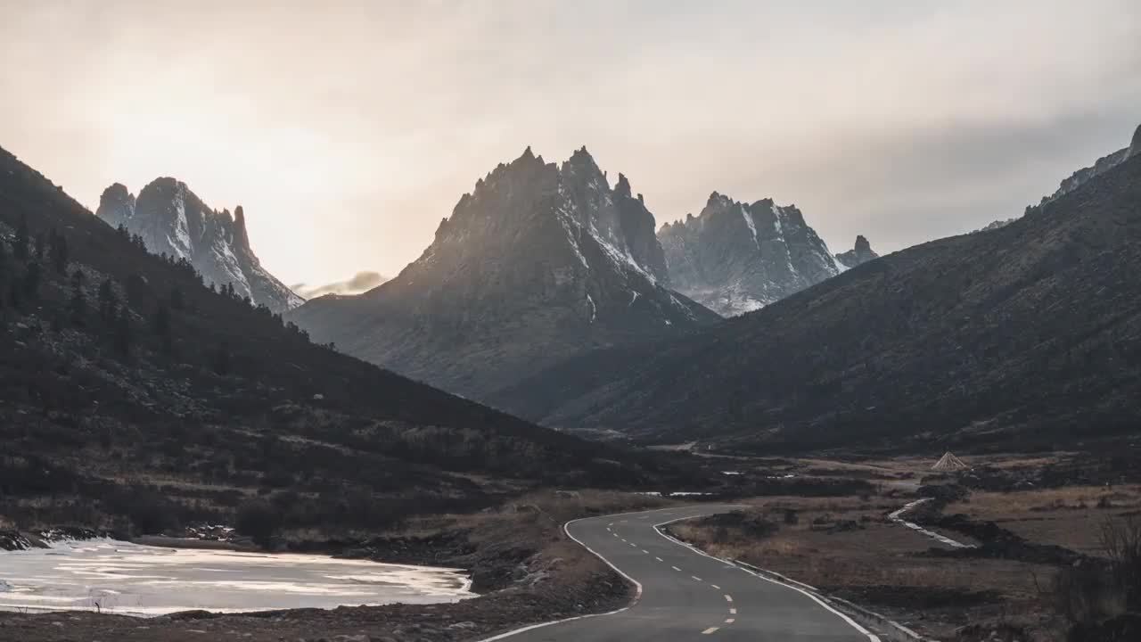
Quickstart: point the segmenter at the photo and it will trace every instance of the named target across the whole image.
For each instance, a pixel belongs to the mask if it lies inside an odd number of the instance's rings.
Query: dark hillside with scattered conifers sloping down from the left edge
[[[260,496],[286,525],[365,527],[659,474],[314,345],[2,150],[0,250],[5,516],[154,531]]]

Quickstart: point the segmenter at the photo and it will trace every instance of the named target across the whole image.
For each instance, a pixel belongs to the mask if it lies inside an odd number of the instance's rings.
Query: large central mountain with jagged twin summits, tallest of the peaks
[[[290,313],[315,340],[487,399],[592,347],[673,336],[718,316],[671,291],[654,215],[585,147],[523,155],[476,183],[395,279]]]

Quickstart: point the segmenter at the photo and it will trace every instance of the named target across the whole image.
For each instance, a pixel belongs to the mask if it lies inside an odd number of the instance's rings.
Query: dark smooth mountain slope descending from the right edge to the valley
[[[687,337],[582,354],[493,401],[563,428],[770,450],[1025,450],[1135,431],[1138,138],[1033,216],[879,258]]]

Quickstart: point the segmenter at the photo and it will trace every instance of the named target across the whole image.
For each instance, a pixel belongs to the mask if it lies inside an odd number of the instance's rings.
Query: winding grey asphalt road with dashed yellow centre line
[[[509,642],[869,642],[877,639],[806,593],[703,555],[655,525],[731,511],[691,506],[590,517],[567,532],[641,586],[633,607],[531,627]],[[489,641],[488,641],[489,642]]]

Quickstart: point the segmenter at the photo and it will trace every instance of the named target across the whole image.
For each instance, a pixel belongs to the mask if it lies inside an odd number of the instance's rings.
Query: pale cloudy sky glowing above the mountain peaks
[[[658,224],[771,196],[883,254],[1141,123],[1135,0],[0,0],[0,146],[92,209],[159,176],[242,204],[310,287],[396,274],[528,145],[586,145]]]

